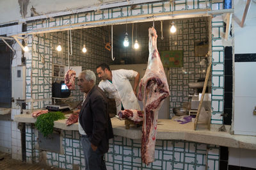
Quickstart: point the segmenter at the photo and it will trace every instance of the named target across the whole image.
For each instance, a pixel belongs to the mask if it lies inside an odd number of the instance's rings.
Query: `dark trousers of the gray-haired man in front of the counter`
[[[104,160],[104,154],[100,153],[97,149],[96,151],[92,150],[90,137],[88,135],[81,136],[81,143],[84,151],[84,161],[86,170],[106,170],[106,164]]]

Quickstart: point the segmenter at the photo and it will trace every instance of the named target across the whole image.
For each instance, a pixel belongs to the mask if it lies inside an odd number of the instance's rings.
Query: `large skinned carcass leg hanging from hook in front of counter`
[[[154,27],[148,29],[148,65],[140,81],[138,99],[143,100],[143,126],[141,139],[141,157],[145,164],[154,162],[158,111],[164,98],[170,94],[166,75],[157,50],[157,34]],[[142,98],[141,88],[144,87]]]

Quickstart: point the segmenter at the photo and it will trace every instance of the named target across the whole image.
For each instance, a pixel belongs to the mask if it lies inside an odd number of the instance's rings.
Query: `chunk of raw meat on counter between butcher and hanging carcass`
[[[143,111],[125,109],[124,111],[118,112],[118,117],[122,119],[127,118],[135,122],[140,122],[143,121]]]

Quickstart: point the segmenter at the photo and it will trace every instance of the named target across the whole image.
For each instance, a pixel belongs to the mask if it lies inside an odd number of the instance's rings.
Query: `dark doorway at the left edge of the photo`
[[[10,42],[8,42],[10,44]],[[0,41],[0,107],[12,107],[12,50]]]

